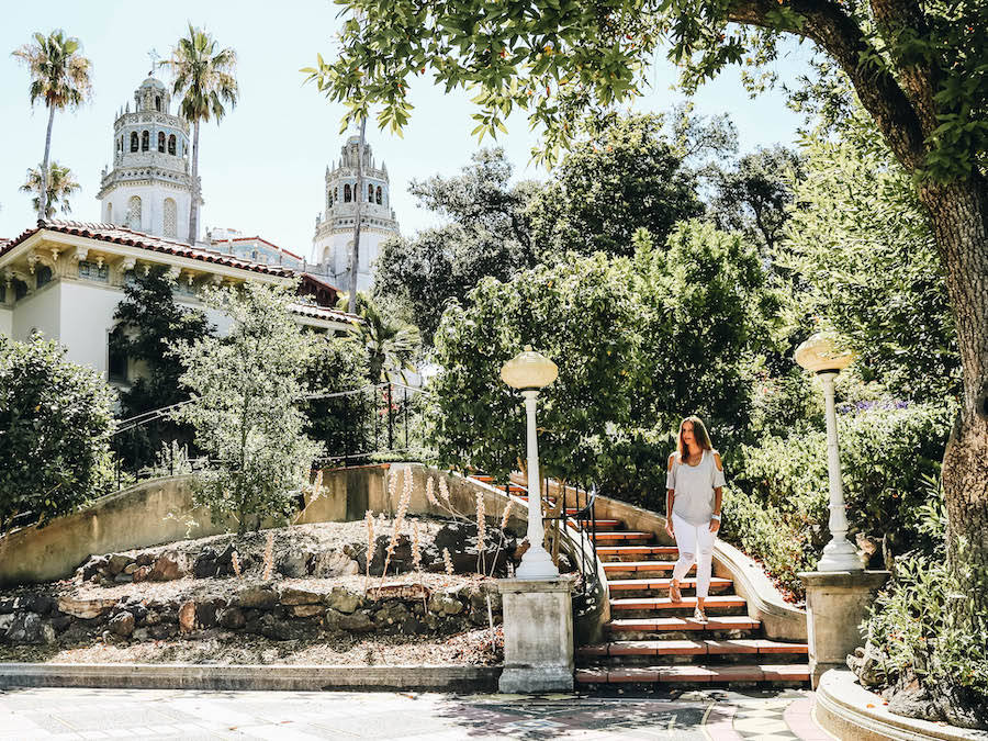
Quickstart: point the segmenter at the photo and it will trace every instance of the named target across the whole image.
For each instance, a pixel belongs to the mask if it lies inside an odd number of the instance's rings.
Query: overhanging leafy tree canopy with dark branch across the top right
[[[639,94],[660,46],[688,90],[728,64],[773,61],[784,34],[811,40],[850,76],[911,171],[952,177],[984,169],[988,151],[988,7],[847,0],[337,0],[341,54],[308,68],[350,121],[380,106],[400,132],[413,80],[431,72],[469,89],[474,133],[496,135],[515,110],[544,128],[536,153],[554,160],[576,133],[574,112]],[[756,85],[756,82],[753,81]]]

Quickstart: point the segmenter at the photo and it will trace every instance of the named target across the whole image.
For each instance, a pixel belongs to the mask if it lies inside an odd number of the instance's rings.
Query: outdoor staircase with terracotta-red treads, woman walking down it
[[[678,558],[674,546],[656,546],[654,532],[626,530],[624,523],[607,519],[596,520],[594,540],[607,574],[610,640],[576,649],[579,684],[802,686],[809,682],[806,643],[764,638],[730,579],[710,580],[708,621],[698,622],[693,619],[696,565],[680,584],[683,600],[669,599]]]

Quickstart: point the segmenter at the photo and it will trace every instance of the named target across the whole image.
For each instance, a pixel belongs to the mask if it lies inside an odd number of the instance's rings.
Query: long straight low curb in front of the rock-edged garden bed
[[[502,666],[312,666],[0,663],[0,689],[428,689],[496,692]]]

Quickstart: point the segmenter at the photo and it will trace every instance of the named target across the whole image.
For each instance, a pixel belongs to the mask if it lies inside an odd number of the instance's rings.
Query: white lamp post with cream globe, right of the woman
[[[830,542],[823,548],[823,558],[817,571],[863,571],[861,559],[847,540],[847,515],[844,510],[844,489],[841,483],[841,456],[838,447],[837,414],[833,408],[833,381],[854,356],[837,350],[833,336],[817,333],[796,348],[796,362],[813,371],[823,382],[827,405],[827,469],[830,473]]]

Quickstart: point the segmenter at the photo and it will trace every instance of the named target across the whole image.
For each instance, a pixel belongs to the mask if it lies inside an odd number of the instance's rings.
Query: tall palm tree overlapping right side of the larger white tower
[[[216,41],[202,29],[189,24],[189,35],[179,38],[171,49],[171,58],[161,63],[170,67],[173,77],[172,94],[181,96],[179,112],[192,122],[192,207],[189,212],[189,244],[195,244],[199,232],[199,124],[216,123],[226,115],[224,103],[237,104],[237,53],[232,48],[217,49]]]

